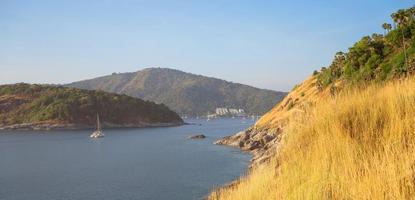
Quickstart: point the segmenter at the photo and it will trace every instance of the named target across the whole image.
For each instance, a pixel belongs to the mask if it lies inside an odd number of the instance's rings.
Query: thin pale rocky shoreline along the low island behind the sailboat
[[[181,126],[185,123],[140,123],[140,124],[111,124],[103,123],[103,128],[145,128],[145,127],[171,127]],[[22,123],[13,125],[0,125],[0,131],[49,131],[49,130],[82,130],[93,129],[95,125],[73,123]]]

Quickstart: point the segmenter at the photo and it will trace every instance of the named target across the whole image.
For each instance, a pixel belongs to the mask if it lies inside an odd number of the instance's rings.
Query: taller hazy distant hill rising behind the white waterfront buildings
[[[263,114],[286,95],[165,68],[112,74],[67,86],[127,94],[164,103],[188,115],[205,115],[217,107],[242,108],[249,114]]]

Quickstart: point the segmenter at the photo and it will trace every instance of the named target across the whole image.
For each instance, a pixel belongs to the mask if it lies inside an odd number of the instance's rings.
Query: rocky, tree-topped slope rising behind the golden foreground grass
[[[315,71],[296,86],[284,100],[266,113],[253,127],[217,141],[253,151],[263,161],[275,151],[280,134],[293,113],[335,96],[344,88],[380,84],[411,76],[415,72],[414,8],[394,13],[397,28],[384,35],[365,36],[349,48],[337,52],[332,64]],[[397,17],[398,15],[398,17]],[[399,22],[399,23],[398,23]]]

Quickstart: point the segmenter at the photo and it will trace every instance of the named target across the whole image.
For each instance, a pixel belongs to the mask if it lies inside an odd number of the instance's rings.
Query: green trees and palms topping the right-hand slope
[[[322,68],[320,87],[338,80],[348,84],[385,81],[415,72],[415,7],[392,14],[396,28],[384,23],[385,34],[365,36],[349,52],[336,53],[332,64]]]

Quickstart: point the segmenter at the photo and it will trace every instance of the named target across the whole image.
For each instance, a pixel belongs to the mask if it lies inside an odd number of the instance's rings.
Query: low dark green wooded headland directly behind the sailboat
[[[0,126],[46,124],[91,127],[99,114],[104,126],[178,125],[168,107],[127,95],[46,85],[0,86]]]

